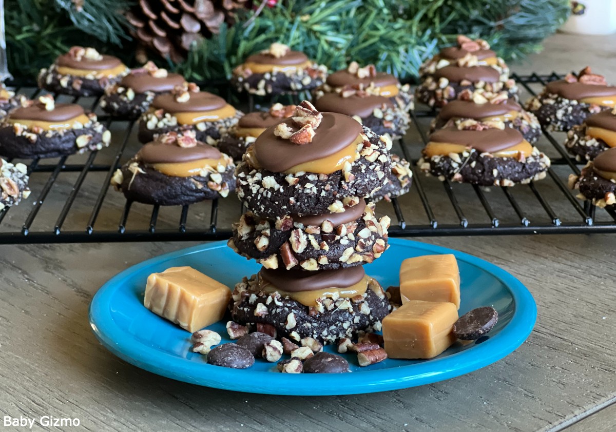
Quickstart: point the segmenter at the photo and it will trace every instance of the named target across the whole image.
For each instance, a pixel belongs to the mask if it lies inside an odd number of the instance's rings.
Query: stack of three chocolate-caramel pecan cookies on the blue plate
[[[362,265],[387,249],[389,217],[364,197],[386,185],[391,139],[301,102],[236,170],[246,209],[229,246],[261,271],[233,291],[233,321],[323,343],[378,331],[391,306]]]

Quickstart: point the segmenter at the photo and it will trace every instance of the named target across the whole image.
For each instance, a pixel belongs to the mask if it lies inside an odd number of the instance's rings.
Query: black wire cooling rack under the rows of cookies
[[[533,73],[513,78],[521,84],[524,98],[561,76]],[[32,98],[41,94],[32,87],[16,90]],[[96,98],[72,100],[101,113]],[[613,211],[596,210],[567,187],[567,177],[579,174],[581,166],[562,146],[564,134],[546,132],[537,144],[553,162],[545,179],[513,188],[483,188],[439,182],[415,170],[434,111],[418,106],[411,116],[413,130],[393,151],[412,161],[413,186],[410,193],[377,206],[379,214],[392,218],[390,236],[616,232]],[[116,168],[139,149],[137,128],[135,122],[103,114],[99,120],[112,132],[109,148],[59,159],[12,161],[28,166],[32,193],[19,206],[0,211],[0,244],[229,238],[231,223],[241,214],[233,194],[191,206],[160,207],[127,202],[116,193],[109,182]]]

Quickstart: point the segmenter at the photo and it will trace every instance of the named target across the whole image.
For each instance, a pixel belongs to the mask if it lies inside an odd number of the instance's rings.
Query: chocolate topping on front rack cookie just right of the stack
[[[431,142],[460,144],[482,153],[496,153],[518,145],[523,140],[522,134],[511,127],[506,127],[503,130],[458,130],[455,127],[447,127],[430,135]]]

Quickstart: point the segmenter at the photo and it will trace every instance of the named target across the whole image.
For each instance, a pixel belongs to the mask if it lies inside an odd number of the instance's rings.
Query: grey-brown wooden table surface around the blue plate
[[[615,82],[615,41],[557,35],[546,54],[516,70],[589,63]],[[572,65],[571,58],[579,60]],[[423,241],[513,273],[537,301],[535,330],[505,359],[462,377],[325,398],[176,382],[121,361],[97,342],[87,308],[98,287],[128,266],[194,243],[0,246],[0,417],[79,418],[78,427],[47,429],[90,431],[616,430],[614,234]]]

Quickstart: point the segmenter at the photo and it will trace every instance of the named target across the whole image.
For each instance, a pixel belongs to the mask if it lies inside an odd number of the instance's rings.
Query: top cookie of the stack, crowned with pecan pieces
[[[304,101],[248,148],[237,167],[238,198],[270,219],[344,212],[387,183],[391,145],[387,135]]]

